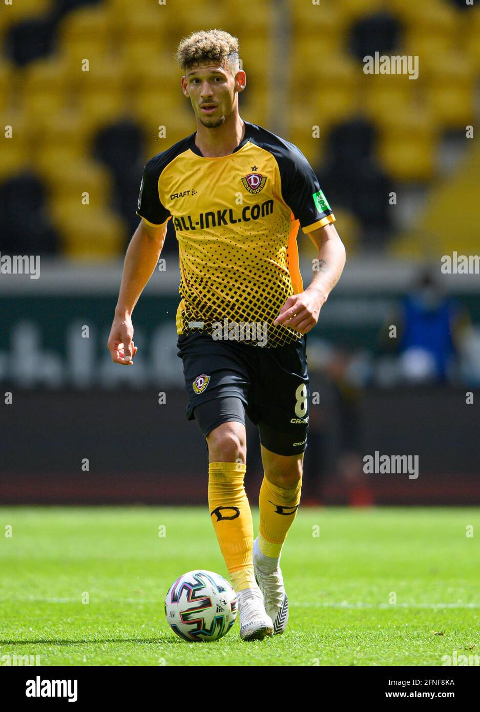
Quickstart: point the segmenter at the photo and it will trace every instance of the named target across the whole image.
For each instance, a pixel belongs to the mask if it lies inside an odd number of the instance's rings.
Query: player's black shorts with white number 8
[[[189,397],[187,419],[197,419],[204,437],[221,423],[245,423],[246,412],[267,450],[295,455],[306,449],[306,334],[268,348],[190,332],[179,335],[177,347]]]

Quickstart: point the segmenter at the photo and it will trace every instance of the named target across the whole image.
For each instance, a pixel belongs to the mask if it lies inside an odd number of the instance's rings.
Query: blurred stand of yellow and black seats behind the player
[[[257,2],[255,13],[229,0],[5,6],[0,115],[12,130],[2,140],[0,191],[10,195],[22,176],[41,185],[43,210],[60,237],[53,239],[50,228],[38,231],[37,241],[45,237],[39,248],[58,246],[73,259],[121,256],[135,229],[142,165],[194,130],[174,51],[181,36],[204,28],[208,18],[209,26],[239,35],[249,80],[241,115],[275,130],[276,113],[286,114],[286,137],[306,154],[335,212],[353,229],[347,243],[408,253],[415,239],[398,231],[386,196],[412,189],[432,193],[435,202],[439,180],[445,190],[459,189],[456,178],[450,187],[441,175],[440,158],[476,117],[480,9],[455,0],[290,0],[283,6],[290,37],[285,86],[272,80],[270,66],[277,41],[271,28],[278,26],[273,0]],[[366,75],[363,58],[376,51],[417,56],[418,79]],[[78,191],[89,188],[87,221]],[[429,223],[430,202],[424,205]],[[94,211],[103,226],[95,239],[85,236]],[[0,249],[16,249],[11,214],[1,218]],[[168,240],[165,250],[174,249]]]

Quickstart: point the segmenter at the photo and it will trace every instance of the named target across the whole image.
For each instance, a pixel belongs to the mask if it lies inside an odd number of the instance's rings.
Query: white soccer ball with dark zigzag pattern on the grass
[[[180,576],[165,596],[165,616],[184,640],[219,640],[236,621],[236,593],[213,571],[194,570]]]

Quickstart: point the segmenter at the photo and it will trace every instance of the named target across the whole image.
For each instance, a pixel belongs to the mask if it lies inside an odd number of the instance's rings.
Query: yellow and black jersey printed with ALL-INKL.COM
[[[172,218],[182,297],[178,334],[261,323],[268,347],[276,347],[301,338],[273,325],[286,299],[303,291],[298,227],[308,233],[335,217],[301,151],[244,123],[244,138],[227,156],[202,156],[192,134],[150,159],[137,215],[155,226]],[[249,330],[231,333],[256,345],[242,338]]]

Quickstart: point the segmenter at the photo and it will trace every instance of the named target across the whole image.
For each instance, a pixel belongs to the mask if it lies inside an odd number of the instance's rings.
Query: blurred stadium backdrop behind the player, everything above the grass
[[[195,130],[174,52],[209,28],[239,37],[241,116],[300,147],[347,248],[308,335],[303,503],[480,503],[478,261],[442,271],[480,246],[480,7],[461,0],[0,5],[0,502],[207,501],[171,221],[135,367],[106,342],[143,165]],[[418,78],[364,73],[376,52],[417,57]],[[306,286],[315,249],[298,247]],[[4,256],[39,257],[39,278]],[[365,474],[375,451],[419,456],[419,477]]]

